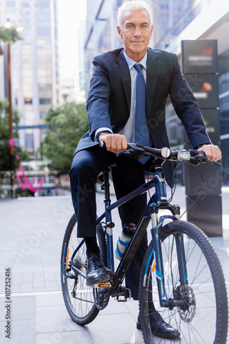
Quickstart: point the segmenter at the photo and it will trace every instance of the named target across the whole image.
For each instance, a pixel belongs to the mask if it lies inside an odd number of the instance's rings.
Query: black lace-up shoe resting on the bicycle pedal
[[[110,277],[107,275],[100,254],[90,255],[87,260],[87,286],[94,286],[96,283],[106,282],[109,281],[109,279]]]

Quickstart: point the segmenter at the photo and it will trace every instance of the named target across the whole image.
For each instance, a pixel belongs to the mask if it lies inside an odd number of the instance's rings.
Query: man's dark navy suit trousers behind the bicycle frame
[[[69,172],[72,201],[78,221],[78,237],[96,236],[96,193],[95,183],[98,174],[105,166],[115,162],[112,169],[113,186],[117,199],[127,195],[144,184],[144,166],[133,158],[101,149],[98,146],[78,151],[72,160]],[[146,193],[120,206],[119,213],[122,226],[131,222],[138,224],[146,206]],[[140,245],[138,252],[126,275],[126,286],[131,289],[133,299],[138,299],[140,270],[144,253],[147,248],[147,234]]]

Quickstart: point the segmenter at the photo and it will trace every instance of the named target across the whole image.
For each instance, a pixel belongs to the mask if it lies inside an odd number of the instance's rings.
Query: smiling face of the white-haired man
[[[144,9],[126,10],[121,25],[122,28],[117,26],[117,31],[120,39],[123,39],[127,56],[133,61],[141,61],[153,33],[149,13]]]

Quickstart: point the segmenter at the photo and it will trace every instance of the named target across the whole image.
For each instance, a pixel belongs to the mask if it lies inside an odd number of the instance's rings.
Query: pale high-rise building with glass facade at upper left
[[[56,12],[56,0],[0,1],[0,25],[10,19],[23,27],[23,41],[11,45],[12,99],[21,114],[19,145],[30,152],[39,149],[43,118],[58,103]]]

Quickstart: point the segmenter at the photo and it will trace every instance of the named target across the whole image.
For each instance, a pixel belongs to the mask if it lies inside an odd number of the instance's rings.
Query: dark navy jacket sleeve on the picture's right
[[[197,147],[202,143],[210,144],[211,141],[206,133],[206,126],[197,100],[193,96],[193,92],[190,90],[186,80],[182,77],[175,54],[169,94],[176,114],[184,125],[192,147]]]

